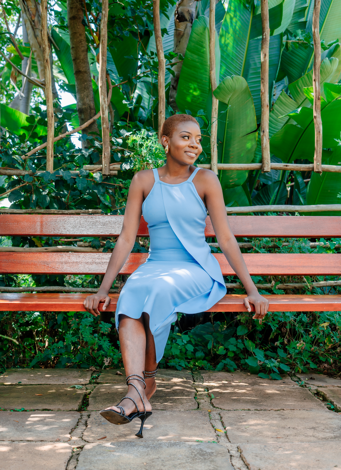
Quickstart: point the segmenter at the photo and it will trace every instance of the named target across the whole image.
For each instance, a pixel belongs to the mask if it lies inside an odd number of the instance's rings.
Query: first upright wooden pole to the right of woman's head
[[[215,74],[215,0],[210,0],[210,82],[212,92],[211,113],[211,170],[218,174],[218,100],[213,92],[217,88],[217,77]]]

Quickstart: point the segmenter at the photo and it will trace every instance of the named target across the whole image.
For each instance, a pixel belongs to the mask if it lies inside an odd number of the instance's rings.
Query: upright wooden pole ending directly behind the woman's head
[[[166,91],[165,91],[165,75],[166,61],[163,53],[161,24],[160,24],[160,0],[153,0],[153,23],[156,43],[156,52],[159,62],[158,73],[158,92],[159,92],[159,113],[158,113],[158,137],[161,141],[161,127],[166,119]]]

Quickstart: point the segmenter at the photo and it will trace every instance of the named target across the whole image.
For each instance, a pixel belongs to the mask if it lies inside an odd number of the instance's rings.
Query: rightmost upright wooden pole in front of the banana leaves
[[[321,41],[320,41],[320,7],[321,0],[315,0],[312,13],[312,39],[314,42],[314,63],[312,66],[312,86],[314,91],[314,126],[315,126],[315,153],[314,172],[322,173],[322,119],[321,119],[321,86],[320,86],[320,65],[321,65]]]

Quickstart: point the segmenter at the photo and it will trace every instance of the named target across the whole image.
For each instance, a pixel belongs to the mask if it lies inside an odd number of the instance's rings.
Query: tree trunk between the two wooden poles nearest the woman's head
[[[197,1],[196,0],[180,0],[175,9],[174,21],[174,52],[185,55],[187,44],[189,41],[192,24],[196,16]],[[174,59],[174,62],[179,59]],[[174,111],[178,111],[175,98],[178,91],[178,83],[182,62],[174,65],[173,70],[175,77],[171,78],[171,87],[169,93],[169,104]]]

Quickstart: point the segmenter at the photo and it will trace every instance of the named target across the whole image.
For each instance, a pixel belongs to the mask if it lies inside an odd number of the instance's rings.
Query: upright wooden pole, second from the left
[[[106,96],[106,48],[108,42],[109,1],[102,0],[101,37],[99,43],[99,104],[102,123],[102,174],[110,174],[110,131]]]

